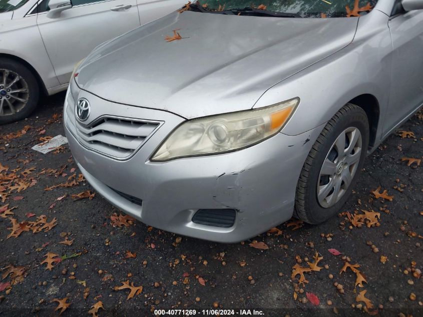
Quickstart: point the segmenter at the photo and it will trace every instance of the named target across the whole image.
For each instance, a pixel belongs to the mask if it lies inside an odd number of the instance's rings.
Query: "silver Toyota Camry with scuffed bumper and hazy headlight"
[[[423,103],[423,0],[203,0],[97,47],[64,124],[91,185],[219,242],[342,209]]]

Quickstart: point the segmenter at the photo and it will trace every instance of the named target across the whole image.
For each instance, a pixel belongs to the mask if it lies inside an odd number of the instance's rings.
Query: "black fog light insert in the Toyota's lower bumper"
[[[191,221],[206,226],[230,228],[235,223],[234,209],[198,209]]]

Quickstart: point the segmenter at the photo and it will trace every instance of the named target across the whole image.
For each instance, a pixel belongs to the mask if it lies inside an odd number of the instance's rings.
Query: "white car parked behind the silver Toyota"
[[[0,124],[26,118],[40,94],[65,90],[75,64],[101,43],[186,2],[0,0]]]

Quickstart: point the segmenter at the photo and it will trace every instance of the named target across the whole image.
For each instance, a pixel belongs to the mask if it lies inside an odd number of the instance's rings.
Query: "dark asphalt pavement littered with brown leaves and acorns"
[[[0,315],[423,316],[423,164],[401,160],[423,158],[422,111],[367,158],[338,216],[219,244],[113,217],[67,144],[32,150],[64,135],[64,96],[0,126]]]

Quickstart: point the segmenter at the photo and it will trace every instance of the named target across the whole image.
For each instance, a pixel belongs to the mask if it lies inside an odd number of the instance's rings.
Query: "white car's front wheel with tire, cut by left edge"
[[[22,120],[37,107],[40,88],[24,65],[0,60],[0,124]]]

